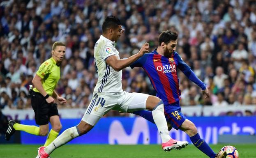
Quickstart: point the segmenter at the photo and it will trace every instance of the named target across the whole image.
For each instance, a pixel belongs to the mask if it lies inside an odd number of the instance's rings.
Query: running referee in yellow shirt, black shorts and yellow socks
[[[50,144],[58,136],[62,125],[60,124],[57,104],[54,98],[61,104],[66,102],[65,98],[60,97],[55,92],[55,87],[60,79],[60,63],[65,56],[65,51],[65,44],[59,41],[55,42],[52,47],[52,57],[40,65],[32,80],[35,88],[32,90],[31,104],[35,112],[36,124],[39,127],[18,124],[10,120],[5,134],[7,141],[15,131],[25,131],[33,135],[46,136],[49,130],[49,121],[52,129],[44,146]]]

